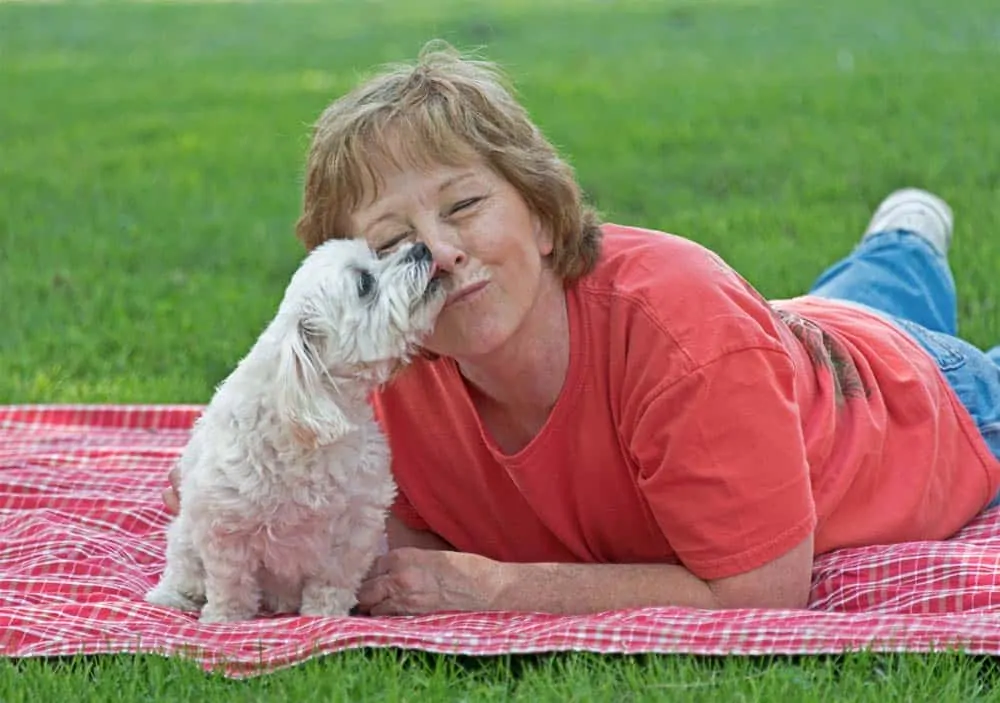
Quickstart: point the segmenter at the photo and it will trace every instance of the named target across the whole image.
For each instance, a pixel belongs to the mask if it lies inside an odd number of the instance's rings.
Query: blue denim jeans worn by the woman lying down
[[[902,230],[872,235],[809,292],[872,308],[908,332],[937,361],[1000,459],[1000,346],[983,352],[958,338],[955,280],[934,247]]]

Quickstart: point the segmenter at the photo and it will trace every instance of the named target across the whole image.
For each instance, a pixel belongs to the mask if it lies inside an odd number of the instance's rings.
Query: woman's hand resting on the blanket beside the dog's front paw
[[[503,564],[476,554],[403,547],[379,557],[358,592],[370,615],[492,610]]]

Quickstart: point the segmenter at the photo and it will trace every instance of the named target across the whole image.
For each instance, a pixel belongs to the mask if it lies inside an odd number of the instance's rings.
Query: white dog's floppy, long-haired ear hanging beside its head
[[[311,446],[335,441],[353,428],[323,369],[320,344],[318,335],[300,320],[281,343],[275,377],[278,414],[300,442]]]

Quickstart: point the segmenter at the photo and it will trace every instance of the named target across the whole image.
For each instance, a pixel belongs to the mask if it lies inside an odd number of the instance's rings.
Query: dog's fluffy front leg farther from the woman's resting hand
[[[258,560],[245,537],[214,536],[202,548],[205,607],[201,622],[251,620],[260,609]]]

